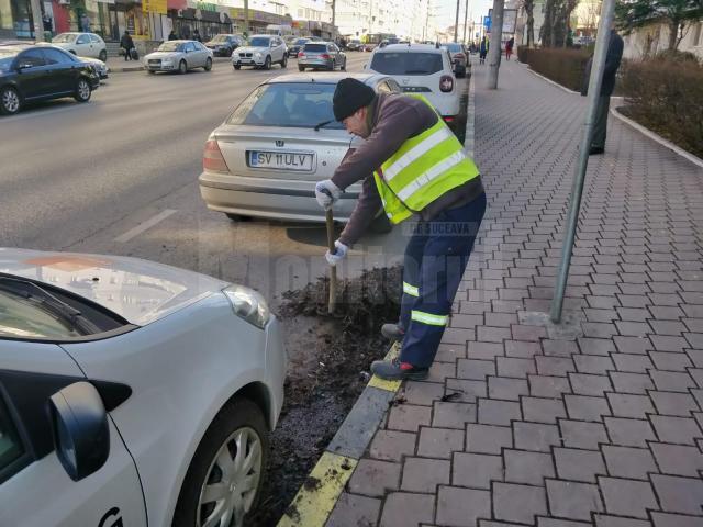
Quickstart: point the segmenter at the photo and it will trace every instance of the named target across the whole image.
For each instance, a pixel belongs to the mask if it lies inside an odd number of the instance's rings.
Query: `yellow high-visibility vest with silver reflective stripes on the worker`
[[[427,99],[412,94],[434,110]],[[393,224],[408,220],[447,191],[479,176],[479,169],[442,116],[422,134],[405,141],[373,172],[383,210]]]

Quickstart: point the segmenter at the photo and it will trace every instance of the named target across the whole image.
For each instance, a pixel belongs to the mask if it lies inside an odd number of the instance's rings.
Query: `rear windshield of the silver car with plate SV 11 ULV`
[[[253,126],[312,128],[332,121],[325,128],[344,127],[334,119],[332,96],[336,85],[322,82],[280,82],[264,85],[247,97],[227,121]]]

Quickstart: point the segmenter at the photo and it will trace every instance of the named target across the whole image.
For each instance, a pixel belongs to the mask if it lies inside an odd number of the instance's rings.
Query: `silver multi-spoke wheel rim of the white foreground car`
[[[220,447],[200,490],[197,527],[243,527],[261,479],[263,447],[249,427],[235,430]]]

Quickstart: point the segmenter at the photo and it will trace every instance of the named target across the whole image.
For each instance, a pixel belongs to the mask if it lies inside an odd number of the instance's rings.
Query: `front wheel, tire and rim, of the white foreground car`
[[[236,444],[243,441],[246,441],[246,451],[236,451]],[[227,512],[232,512],[232,516],[224,525],[249,525],[247,519],[258,505],[264,485],[268,448],[268,429],[261,410],[247,399],[234,399],[227,403],[210,424],[190,462],[178,496],[174,527],[204,525],[213,513],[226,515]],[[249,461],[249,458],[253,459]],[[232,478],[224,469],[237,470],[234,468],[237,462],[245,463],[245,467],[250,463],[252,467],[239,469]],[[231,486],[227,485],[234,483],[231,481],[233,479],[247,481],[250,489],[244,490],[237,502],[231,505],[234,509],[231,511],[226,502],[235,491],[230,491]],[[215,491],[217,483],[225,486],[224,492],[219,494],[219,498],[225,502],[224,507],[217,507],[214,500],[207,502],[202,496],[207,487]],[[236,492],[238,494],[242,491],[237,489]]]

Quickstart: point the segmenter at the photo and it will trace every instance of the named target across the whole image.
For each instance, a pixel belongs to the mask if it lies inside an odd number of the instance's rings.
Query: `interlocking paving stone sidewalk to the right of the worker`
[[[431,379],[326,525],[702,527],[703,171],[611,119],[567,288],[582,336],[549,338],[521,316],[549,310],[585,99],[473,70],[480,244]]]

